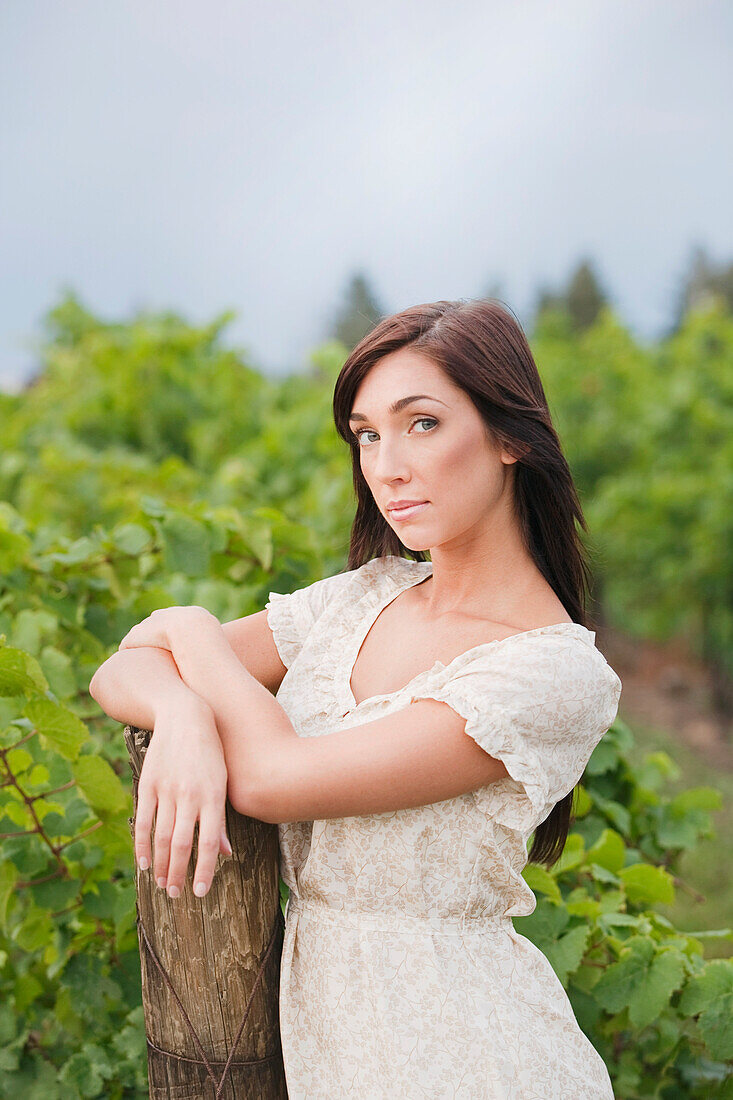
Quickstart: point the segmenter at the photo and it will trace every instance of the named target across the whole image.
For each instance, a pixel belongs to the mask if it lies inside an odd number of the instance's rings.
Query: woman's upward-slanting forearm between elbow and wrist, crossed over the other
[[[247,777],[237,809],[258,816],[285,761],[293,765],[299,738],[291,719],[240,663],[219,624],[184,634],[172,649],[183,683],[214,712],[230,779]]]

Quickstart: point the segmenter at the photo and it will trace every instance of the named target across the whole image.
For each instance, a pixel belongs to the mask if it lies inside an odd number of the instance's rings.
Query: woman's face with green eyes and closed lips
[[[428,396],[391,409],[415,395]],[[354,395],[349,426],[376,506],[409,550],[490,535],[497,509],[511,506],[516,460],[489,438],[468,394],[417,351],[401,348],[375,363]],[[391,510],[397,501],[423,506]]]

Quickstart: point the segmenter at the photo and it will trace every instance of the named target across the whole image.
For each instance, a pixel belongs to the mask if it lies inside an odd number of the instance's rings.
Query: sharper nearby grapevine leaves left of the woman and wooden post
[[[142,1098],[129,763],[89,681],[155,607],[226,622],[330,566],[274,508],[146,495],[77,538],[0,504],[0,1096]]]

